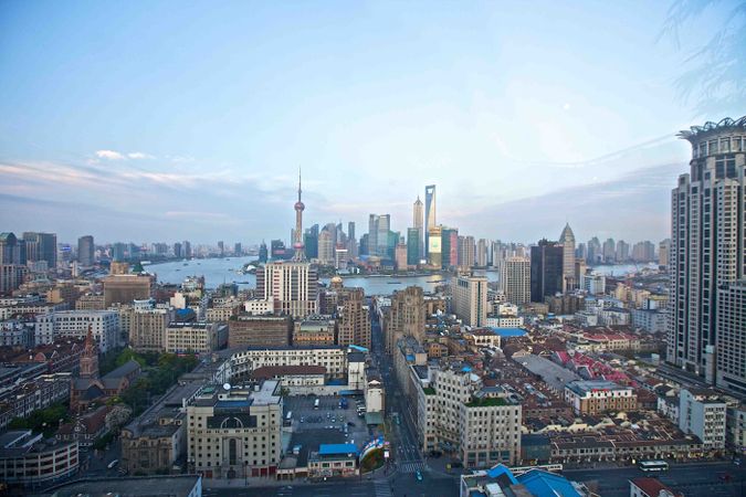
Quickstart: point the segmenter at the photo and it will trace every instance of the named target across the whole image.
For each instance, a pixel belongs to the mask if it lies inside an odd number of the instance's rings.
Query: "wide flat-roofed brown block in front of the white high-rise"
[[[287,347],[292,330],[290,316],[239,315],[228,321],[228,346]]]

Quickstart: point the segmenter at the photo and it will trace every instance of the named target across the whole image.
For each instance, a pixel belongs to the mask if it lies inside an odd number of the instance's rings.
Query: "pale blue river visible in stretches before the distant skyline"
[[[217,288],[222,283],[237,283],[240,288],[253,288],[256,286],[256,277],[253,274],[235,273],[244,264],[253,261],[256,261],[256,257],[199,258],[150,264],[145,268],[149,273],[155,273],[160,283],[179,284],[187,276],[204,276],[204,284],[208,288]],[[654,264],[637,266],[634,264],[599,265],[593,266],[593,271],[607,276],[623,276],[643,267],[654,268],[656,266]],[[477,269],[475,273],[486,275],[491,282],[498,279],[495,271]],[[345,286],[361,287],[366,295],[390,295],[393,290],[412,285],[421,286],[425,292],[432,292],[435,286],[446,283],[449,279],[450,276],[441,274],[430,276],[350,276],[344,278]],[[322,282],[328,284],[328,278],[322,278]]]

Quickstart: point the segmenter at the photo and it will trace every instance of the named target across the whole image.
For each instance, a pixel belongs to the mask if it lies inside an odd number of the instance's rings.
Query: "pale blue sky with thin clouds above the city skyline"
[[[659,241],[675,134],[746,114],[682,88],[705,3],[0,0],[0,231],[287,240],[302,168],[306,226],[434,183],[463,234]]]

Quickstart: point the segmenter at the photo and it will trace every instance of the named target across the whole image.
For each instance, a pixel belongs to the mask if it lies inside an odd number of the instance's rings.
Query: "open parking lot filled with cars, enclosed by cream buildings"
[[[318,409],[315,408],[315,401],[318,399]],[[342,409],[339,402],[347,400],[347,408]],[[285,398],[285,415],[292,412],[293,432],[304,433],[309,431],[335,431],[340,437],[336,437],[336,443],[355,443],[363,446],[367,443],[374,432],[365,424],[365,417],[357,414],[357,402],[363,402],[361,396],[315,396],[297,395]],[[328,432],[327,432],[328,433]],[[339,441],[339,442],[337,442]],[[329,442],[329,443],[335,443]],[[317,450],[318,447],[309,447]]]

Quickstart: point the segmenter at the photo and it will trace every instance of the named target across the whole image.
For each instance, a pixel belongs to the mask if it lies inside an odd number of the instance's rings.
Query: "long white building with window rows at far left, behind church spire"
[[[119,315],[113,310],[59,310],[36,316],[36,345],[52,343],[59,338],[84,338],[92,327],[93,337],[103,353],[117,346]]]

